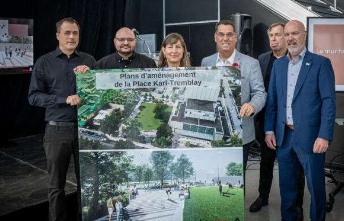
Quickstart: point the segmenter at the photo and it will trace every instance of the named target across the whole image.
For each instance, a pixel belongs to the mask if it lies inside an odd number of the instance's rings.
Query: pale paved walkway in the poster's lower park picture
[[[139,190],[137,197],[130,200],[126,207],[130,219],[132,221],[172,221],[175,211],[180,203],[183,203],[178,197],[178,193],[179,191],[172,190],[171,201],[169,201],[166,190],[152,190],[149,193]],[[108,220],[109,215],[97,221]],[[112,220],[116,220],[116,213],[113,214]]]

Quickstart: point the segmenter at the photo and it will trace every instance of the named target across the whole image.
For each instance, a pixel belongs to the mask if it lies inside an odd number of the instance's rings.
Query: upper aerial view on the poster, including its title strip
[[[97,150],[241,147],[241,80],[232,66],[92,70],[77,76],[79,137]]]

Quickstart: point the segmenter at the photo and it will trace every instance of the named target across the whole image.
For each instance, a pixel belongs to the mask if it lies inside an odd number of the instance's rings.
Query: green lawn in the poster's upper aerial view
[[[141,131],[156,130],[162,123],[164,123],[160,119],[154,118],[154,103],[142,103],[141,106],[142,110],[136,117],[142,123],[142,127],[140,128]],[[168,106],[165,109],[165,116],[167,117],[167,119],[169,119],[168,117],[170,117],[171,111],[172,106]]]

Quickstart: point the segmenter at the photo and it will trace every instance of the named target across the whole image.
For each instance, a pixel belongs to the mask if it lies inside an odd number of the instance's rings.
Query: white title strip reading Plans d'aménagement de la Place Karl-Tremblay
[[[96,73],[97,89],[163,86],[218,86],[220,70],[171,70]]]

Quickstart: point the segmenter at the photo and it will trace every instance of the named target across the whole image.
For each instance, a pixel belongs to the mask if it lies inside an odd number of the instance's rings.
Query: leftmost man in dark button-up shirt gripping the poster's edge
[[[80,167],[75,73],[85,73],[95,59],[79,52],[79,24],[73,18],[57,22],[57,49],[41,56],[34,65],[29,87],[29,103],[46,108],[43,138],[49,174],[49,220],[65,221],[64,186],[71,155],[74,156],[80,199]],[[80,210],[79,202],[79,210]],[[79,216],[81,215],[79,211]],[[79,217],[80,219],[80,217]]]

